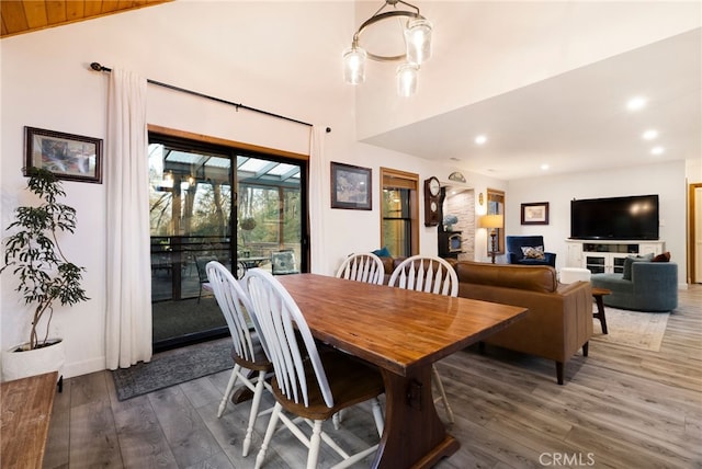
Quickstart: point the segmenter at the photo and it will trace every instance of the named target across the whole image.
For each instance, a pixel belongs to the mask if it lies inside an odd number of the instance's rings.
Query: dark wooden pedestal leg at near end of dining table
[[[385,382],[385,428],[374,468],[429,468],[458,450],[446,433],[431,390],[431,364],[406,376],[382,369]]]

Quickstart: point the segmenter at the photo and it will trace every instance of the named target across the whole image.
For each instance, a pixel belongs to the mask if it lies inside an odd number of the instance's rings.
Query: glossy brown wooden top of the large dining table
[[[317,274],[278,278],[317,339],[401,376],[480,341],[526,312]]]

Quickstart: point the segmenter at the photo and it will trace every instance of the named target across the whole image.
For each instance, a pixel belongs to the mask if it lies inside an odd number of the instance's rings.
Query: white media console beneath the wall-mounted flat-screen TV
[[[629,255],[660,254],[665,241],[602,241],[567,239],[567,267],[589,268],[593,274],[621,274]]]

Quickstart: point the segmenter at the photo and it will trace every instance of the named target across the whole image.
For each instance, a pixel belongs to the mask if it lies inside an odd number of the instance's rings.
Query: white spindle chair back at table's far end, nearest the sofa
[[[458,276],[445,260],[412,255],[395,267],[388,285],[438,295],[458,296]]]

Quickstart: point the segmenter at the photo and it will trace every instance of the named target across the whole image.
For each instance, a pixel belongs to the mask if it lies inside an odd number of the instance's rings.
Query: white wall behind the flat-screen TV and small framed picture
[[[559,174],[510,181],[506,196],[506,233],[543,234],[547,251],[555,252],[556,267],[566,265],[565,240],[570,236],[570,201],[658,194],[660,240],[678,264],[678,282],[686,283],[686,164],[647,164],[589,173]],[[548,225],[521,225],[521,204],[547,202]]]

